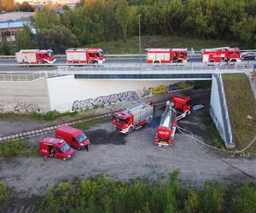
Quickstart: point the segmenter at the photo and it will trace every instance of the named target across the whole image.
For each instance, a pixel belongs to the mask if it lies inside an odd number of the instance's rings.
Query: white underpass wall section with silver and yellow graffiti
[[[60,112],[134,101],[165,94],[182,86],[170,80],[92,80],[75,79],[73,76],[48,78],[47,83],[50,108]]]

